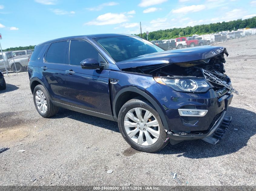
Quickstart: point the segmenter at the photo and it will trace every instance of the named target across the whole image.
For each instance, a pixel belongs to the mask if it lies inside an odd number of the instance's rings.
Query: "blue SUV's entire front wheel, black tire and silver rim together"
[[[135,108],[137,111],[135,111]],[[152,116],[147,118],[147,112],[151,113]],[[136,113],[141,113],[141,118]],[[131,118],[134,116],[135,118],[133,119],[135,120],[132,120],[128,116],[131,116]],[[145,125],[143,125],[141,121]],[[146,124],[153,121],[155,121],[155,127],[149,125],[146,126]],[[125,122],[127,126],[125,126]],[[135,126],[129,127],[130,125]],[[151,103],[140,97],[127,101],[123,107],[121,107],[118,114],[118,127],[125,141],[138,151],[157,152],[168,144],[168,142],[164,142],[167,138],[167,134],[158,112],[154,109]],[[151,134],[151,132],[155,135]],[[131,135],[129,136],[128,133]]]

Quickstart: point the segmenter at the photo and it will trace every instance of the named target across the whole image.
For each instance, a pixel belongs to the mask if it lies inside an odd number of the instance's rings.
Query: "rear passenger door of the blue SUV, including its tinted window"
[[[42,82],[52,100],[64,104],[68,104],[65,83],[67,45],[67,40],[50,44],[39,67],[39,73],[43,75]]]

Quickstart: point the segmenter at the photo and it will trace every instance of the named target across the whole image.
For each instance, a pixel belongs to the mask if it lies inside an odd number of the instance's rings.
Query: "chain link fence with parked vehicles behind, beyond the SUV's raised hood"
[[[153,40],[151,42],[165,50],[172,50],[194,46],[214,45],[229,40],[250,37],[252,35],[256,35],[256,28],[231,32],[223,31],[222,33],[217,34],[193,35],[192,37],[179,37],[175,39]]]

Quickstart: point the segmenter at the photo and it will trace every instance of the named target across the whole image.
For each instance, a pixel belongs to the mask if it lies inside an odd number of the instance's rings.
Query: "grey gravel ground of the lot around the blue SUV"
[[[150,154],[132,149],[115,122],[61,109],[37,113],[28,75],[5,77],[0,94],[0,185],[256,185],[256,37],[222,43],[239,95],[233,124],[217,145],[202,140],[168,144]],[[26,150],[24,153],[18,150]],[[108,174],[108,170],[113,170]],[[187,184],[186,184],[187,183]]]

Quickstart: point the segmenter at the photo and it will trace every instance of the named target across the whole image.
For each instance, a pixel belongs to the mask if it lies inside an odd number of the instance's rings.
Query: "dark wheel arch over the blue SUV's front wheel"
[[[169,126],[168,126],[167,120],[165,118],[165,114],[161,110],[158,103],[152,97],[150,97],[148,94],[146,94],[144,91],[141,91],[136,87],[123,88],[116,94],[115,99],[113,101],[113,117],[114,117],[114,119],[117,121],[119,111],[124,103],[126,103],[128,100],[131,100],[134,97],[138,97],[138,96],[144,97],[155,107],[155,110],[158,112],[158,114],[162,120],[164,128],[166,130],[169,130]]]

